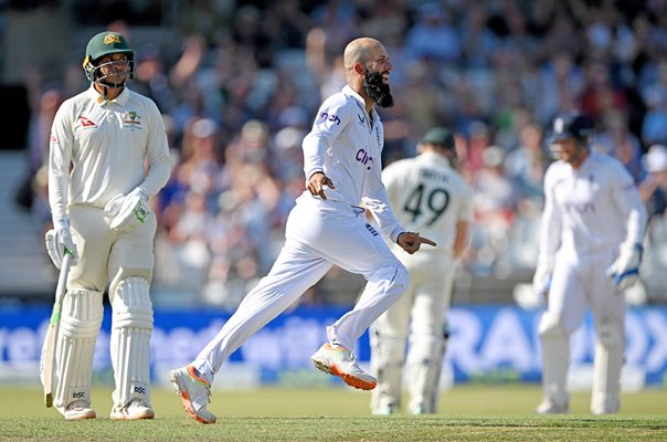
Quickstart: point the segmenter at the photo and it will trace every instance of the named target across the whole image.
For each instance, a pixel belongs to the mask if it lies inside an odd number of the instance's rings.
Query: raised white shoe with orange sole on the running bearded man
[[[347,348],[331,347],[328,343],[310,357],[313,365],[329,375],[338,376],[345,383],[360,390],[372,390],[378,380],[357,365],[354,355]]]

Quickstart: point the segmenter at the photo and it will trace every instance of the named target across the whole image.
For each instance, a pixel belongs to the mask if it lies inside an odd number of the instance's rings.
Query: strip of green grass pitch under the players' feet
[[[0,441],[667,441],[667,391],[623,394],[622,412],[594,417],[589,393],[572,413],[538,417],[538,386],[462,386],[436,415],[373,417],[369,393],[347,388],[213,392],[218,424],[191,421],[171,390],[153,389],[156,419],[108,419],[110,390],[93,392],[98,419],[65,422],[35,388],[0,387]]]

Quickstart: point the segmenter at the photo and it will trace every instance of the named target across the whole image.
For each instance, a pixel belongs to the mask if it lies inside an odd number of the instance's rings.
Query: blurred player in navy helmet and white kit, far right
[[[538,333],[544,397],[538,413],[569,411],[570,336],[591,308],[596,332],[591,412],[618,411],[625,347],[622,291],[638,278],[646,211],[617,159],[589,146],[593,122],[580,113],[553,120],[559,158],[544,176],[544,212],[533,287],[547,295]]]

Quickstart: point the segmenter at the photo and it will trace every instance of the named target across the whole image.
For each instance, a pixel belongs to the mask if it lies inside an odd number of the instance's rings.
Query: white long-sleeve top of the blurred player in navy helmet
[[[541,260],[559,250],[580,255],[644,241],[646,209],[632,176],[614,157],[591,151],[579,169],[551,164],[544,200]]]

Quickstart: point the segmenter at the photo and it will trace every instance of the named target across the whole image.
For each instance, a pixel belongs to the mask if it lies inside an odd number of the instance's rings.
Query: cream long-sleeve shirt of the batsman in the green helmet
[[[105,101],[91,85],[59,108],[49,152],[54,223],[67,218],[68,204],[104,208],[139,186],[152,197],[170,173],[165,123],[150,98],[125,88]]]

